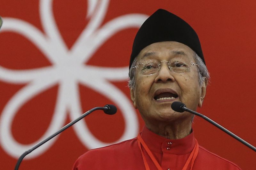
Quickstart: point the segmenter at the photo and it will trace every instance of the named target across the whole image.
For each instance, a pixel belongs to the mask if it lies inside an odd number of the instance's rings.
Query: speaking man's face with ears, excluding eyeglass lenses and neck
[[[170,70],[168,62],[165,61],[176,58],[189,61],[189,70],[185,73]],[[160,70],[154,74],[143,74],[144,70],[136,68],[135,87],[131,89],[131,99],[145,123],[152,120],[191,120],[191,114],[175,112],[171,109],[171,104],[180,101],[192,110],[202,106],[206,83],[199,85],[197,66],[191,64],[195,63],[193,51],[179,42],[157,42],[140,51],[136,64],[145,60],[164,61],[161,62]]]

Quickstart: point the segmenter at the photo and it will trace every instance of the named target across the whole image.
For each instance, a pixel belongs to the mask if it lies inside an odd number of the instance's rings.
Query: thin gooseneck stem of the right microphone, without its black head
[[[214,122],[212,119],[210,119],[209,117],[204,116],[203,114],[200,114],[194,110],[188,109],[186,108],[184,105],[180,107],[180,109],[184,110],[184,111],[188,111],[196,116],[202,117],[203,119],[205,119],[206,121],[210,122],[211,124],[213,124],[214,126],[216,126],[217,128],[219,128],[220,130],[226,132],[227,134],[229,134],[230,136],[232,136],[233,138],[235,138],[236,140],[238,140],[239,142],[241,142],[242,144],[246,145],[247,147],[251,148],[253,151],[256,152],[256,147],[254,147],[253,145],[249,144],[248,142],[246,142],[244,139],[236,136],[234,133],[232,133],[231,131],[229,131],[228,129],[224,128],[223,126],[221,126],[220,124],[217,124],[216,122]]]

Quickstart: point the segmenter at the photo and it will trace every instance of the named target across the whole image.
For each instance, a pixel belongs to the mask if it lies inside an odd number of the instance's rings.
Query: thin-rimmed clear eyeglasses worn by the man
[[[143,60],[139,64],[137,64],[135,67],[132,67],[132,69],[138,68],[140,70],[140,73],[145,74],[155,74],[158,73],[158,71],[161,68],[161,63],[167,62],[169,70],[176,72],[176,73],[186,73],[189,71],[190,66],[196,65],[198,67],[198,64],[192,63],[191,61],[184,60],[184,59],[172,59],[169,61],[158,61],[158,60]]]

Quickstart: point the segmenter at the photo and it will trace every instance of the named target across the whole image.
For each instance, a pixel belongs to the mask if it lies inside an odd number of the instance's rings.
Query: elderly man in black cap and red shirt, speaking
[[[239,170],[198,145],[193,115],[171,109],[174,101],[192,110],[204,101],[209,73],[196,32],[176,15],[157,10],[140,27],[132,47],[129,86],[145,127],[136,138],[93,149],[73,169]]]

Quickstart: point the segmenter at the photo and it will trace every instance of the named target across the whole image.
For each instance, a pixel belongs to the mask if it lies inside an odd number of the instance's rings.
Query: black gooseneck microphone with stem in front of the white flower
[[[50,137],[44,139],[43,141],[39,142],[38,144],[36,144],[34,147],[32,147],[31,149],[25,151],[24,153],[22,153],[22,155],[20,156],[20,158],[18,159],[16,166],[14,168],[14,170],[18,170],[20,163],[22,161],[22,159],[28,155],[30,152],[34,151],[36,148],[38,148],[39,146],[43,145],[44,143],[46,143],[47,141],[49,141],[50,139],[54,138],[55,136],[57,136],[58,134],[60,134],[62,131],[65,131],[66,129],[68,129],[70,126],[72,126],[73,124],[75,124],[76,122],[78,122],[79,120],[81,120],[82,118],[84,118],[85,116],[89,115],[90,113],[92,113],[95,110],[103,110],[106,114],[108,115],[114,115],[117,111],[116,106],[112,105],[112,104],[107,104],[104,107],[95,107],[92,108],[91,110],[85,112],[84,114],[82,114],[80,117],[78,117],[76,120],[73,120],[72,122],[69,122],[68,124],[66,124],[65,126],[63,126],[59,131],[57,131],[56,133],[54,133],[53,135],[51,135]]]

